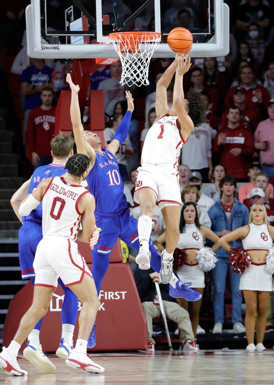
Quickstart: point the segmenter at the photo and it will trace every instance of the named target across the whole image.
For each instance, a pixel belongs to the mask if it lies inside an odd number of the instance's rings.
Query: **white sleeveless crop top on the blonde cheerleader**
[[[249,223],[249,233],[242,239],[242,246],[246,251],[266,250],[272,248],[272,238],[269,234],[267,224]]]

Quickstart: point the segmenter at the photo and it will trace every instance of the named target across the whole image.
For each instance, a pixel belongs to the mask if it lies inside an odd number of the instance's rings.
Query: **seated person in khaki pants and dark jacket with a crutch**
[[[154,246],[158,253],[161,254],[162,245],[155,241]],[[148,351],[154,351],[155,345],[155,340],[152,338],[152,318],[160,316],[163,317],[167,332],[167,339],[169,341],[169,348],[170,350],[172,349],[169,331],[165,322],[166,316],[169,320],[178,324],[182,343],[184,344],[183,350],[197,352],[199,348],[195,346],[189,313],[184,308],[180,307],[175,298],[169,295],[169,285],[161,283],[159,273],[156,273],[152,268],[149,270],[140,270],[137,267],[134,273],[134,278],[145,312],[145,318],[147,320]],[[160,296],[157,295],[157,285],[159,285],[158,292]],[[161,311],[161,301],[164,314],[162,314]]]

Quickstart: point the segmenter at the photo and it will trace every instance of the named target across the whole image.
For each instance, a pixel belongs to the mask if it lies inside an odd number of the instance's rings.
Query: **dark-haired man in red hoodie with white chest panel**
[[[228,174],[238,182],[245,182],[254,144],[251,132],[239,125],[240,114],[239,107],[230,107],[227,127],[217,132],[212,154],[219,157],[219,163],[226,167]]]

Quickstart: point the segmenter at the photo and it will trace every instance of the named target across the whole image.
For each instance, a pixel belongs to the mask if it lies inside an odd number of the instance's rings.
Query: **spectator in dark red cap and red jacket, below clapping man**
[[[258,114],[255,110],[247,107],[246,97],[247,92],[244,88],[237,87],[234,89],[233,105],[237,105],[241,110],[240,124],[247,130],[255,131],[258,124]],[[222,114],[221,128],[227,126],[227,111]]]

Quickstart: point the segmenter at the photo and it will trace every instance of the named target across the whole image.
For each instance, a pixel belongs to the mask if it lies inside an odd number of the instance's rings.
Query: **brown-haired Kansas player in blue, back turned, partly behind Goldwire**
[[[20,203],[27,194],[31,194],[45,178],[62,176],[67,174],[65,164],[69,157],[73,155],[74,140],[69,135],[57,135],[50,142],[52,148],[53,162],[47,166],[40,166],[35,169],[31,178],[25,182],[13,195],[11,204],[18,219],[23,223],[18,233],[19,241],[19,262],[23,280],[31,280],[32,285],[35,281],[33,269],[33,260],[38,243],[43,238],[42,234],[42,203],[37,206],[28,216],[21,217],[18,213]],[[56,354],[58,357],[67,358],[72,346],[74,325],[78,313],[78,298],[72,291],[65,287],[59,279],[65,293],[61,320],[62,320],[62,338]],[[35,325],[35,328],[28,336],[27,348],[33,350],[33,354],[43,355],[39,340],[39,332],[43,318]],[[45,356],[45,363],[50,360]]]

